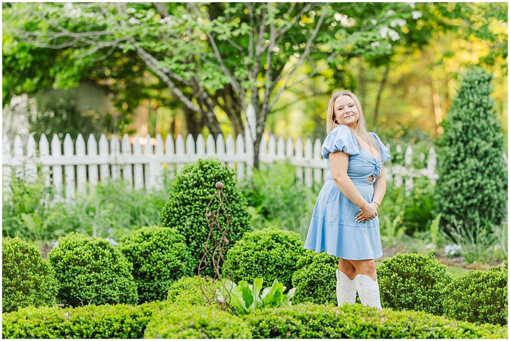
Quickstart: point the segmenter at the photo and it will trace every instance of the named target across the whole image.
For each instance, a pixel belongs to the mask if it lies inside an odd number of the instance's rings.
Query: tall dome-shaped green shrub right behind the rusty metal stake
[[[226,233],[228,247],[232,247],[244,232],[253,230],[251,215],[248,213],[248,204],[237,187],[234,169],[228,167],[218,158],[199,159],[188,164],[177,174],[172,182],[170,196],[160,212],[162,226],[174,227],[186,238],[194,258],[193,271],[196,274],[200,259],[205,253],[203,245],[209,235],[210,229],[206,220],[206,208],[211,198],[211,211],[218,208],[216,182],[223,182],[223,193],[230,203],[232,213],[225,204],[227,212],[231,214],[231,222]],[[219,211],[219,223],[226,227],[227,218],[223,209]],[[216,240],[221,234],[214,228]],[[212,247],[212,240],[209,247]],[[225,253],[226,254],[226,253]],[[211,266],[200,272],[202,275],[212,276]]]

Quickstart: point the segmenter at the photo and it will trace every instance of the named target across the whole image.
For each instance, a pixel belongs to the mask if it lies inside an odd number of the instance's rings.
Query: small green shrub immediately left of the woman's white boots
[[[294,303],[336,303],[336,269],[338,258],[324,252],[305,251],[292,275],[292,286],[297,287]]]

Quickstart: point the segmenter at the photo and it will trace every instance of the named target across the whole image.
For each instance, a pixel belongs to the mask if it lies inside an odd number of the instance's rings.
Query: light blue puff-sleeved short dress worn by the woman
[[[390,151],[375,133],[370,133],[379,145],[378,158],[360,147],[354,133],[346,125],[331,130],[322,144],[326,159],[327,179],[322,187],[308,229],[304,248],[344,259],[377,259],[382,256],[379,217],[356,223],[360,208],[340,191],[331,176],[329,153],[337,150],[349,154],[347,175],[360,194],[371,202],[374,182],[382,170],[382,163],[390,158]],[[372,176],[372,181],[368,178]]]

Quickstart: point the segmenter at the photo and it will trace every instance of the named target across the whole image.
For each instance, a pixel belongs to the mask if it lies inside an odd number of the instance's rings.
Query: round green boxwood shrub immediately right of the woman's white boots
[[[441,315],[441,290],[451,282],[447,269],[424,253],[399,252],[382,260],[377,268],[382,307]]]

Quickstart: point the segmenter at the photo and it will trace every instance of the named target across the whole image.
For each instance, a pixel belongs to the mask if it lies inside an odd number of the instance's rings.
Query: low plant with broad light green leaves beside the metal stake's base
[[[286,287],[275,279],[272,286],[264,288],[262,294],[262,278],[253,279],[253,285],[247,281],[239,281],[238,284],[225,280],[225,286],[217,290],[218,298],[226,300],[236,309],[238,315],[248,314],[256,309],[264,307],[284,307],[292,305],[290,299],[294,296],[296,288],[293,287],[284,294]]]

